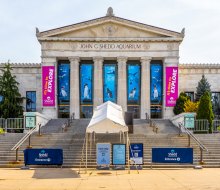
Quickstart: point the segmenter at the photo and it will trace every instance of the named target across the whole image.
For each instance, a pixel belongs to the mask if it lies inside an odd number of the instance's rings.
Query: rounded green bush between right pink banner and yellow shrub
[[[176,100],[176,105],[173,108],[173,112],[175,115],[181,114],[184,112],[185,109],[185,102],[189,100],[189,97],[186,93],[181,92],[179,98]]]

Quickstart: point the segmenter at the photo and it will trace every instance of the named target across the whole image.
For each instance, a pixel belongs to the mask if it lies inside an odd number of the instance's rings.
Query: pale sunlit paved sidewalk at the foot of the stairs
[[[139,171],[88,171],[77,174],[68,168],[30,170],[0,169],[1,190],[87,190],[87,189],[220,189],[220,169],[148,169]]]

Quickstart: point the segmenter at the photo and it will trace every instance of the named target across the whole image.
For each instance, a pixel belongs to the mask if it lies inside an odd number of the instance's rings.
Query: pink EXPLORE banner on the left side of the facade
[[[55,67],[42,66],[43,106],[55,106]]]

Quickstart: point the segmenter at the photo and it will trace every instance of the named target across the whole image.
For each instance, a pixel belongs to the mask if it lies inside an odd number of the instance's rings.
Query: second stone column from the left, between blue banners
[[[103,102],[102,65],[103,57],[93,57],[94,61],[94,108]]]

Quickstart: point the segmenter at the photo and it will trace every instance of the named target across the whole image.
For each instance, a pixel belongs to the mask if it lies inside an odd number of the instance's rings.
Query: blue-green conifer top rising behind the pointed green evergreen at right
[[[205,92],[209,92],[211,95],[211,85],[209,84],[208,80],[205,78],[205,75],[202,75],[202,79],[198,82],[198,86],[196,87],[196,101],[199,101],[201,96]]]

